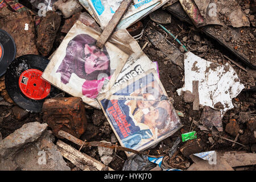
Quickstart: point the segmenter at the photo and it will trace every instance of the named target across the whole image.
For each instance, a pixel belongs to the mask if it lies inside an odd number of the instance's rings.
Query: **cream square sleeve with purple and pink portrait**
[[[113,86],[128,59],[127,53],[110,42],[96,47],[99,33],[78,20],[43,72],[43,79],[57,88],[101,109],[96,97],[102,86]]]

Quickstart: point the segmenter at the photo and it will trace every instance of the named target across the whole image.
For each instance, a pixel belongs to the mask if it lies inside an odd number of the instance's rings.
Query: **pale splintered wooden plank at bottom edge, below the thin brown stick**
[[[57,140],[58,150],[64,158],[84,171],[114,171],[89,155],[83,154],[68,144]]]

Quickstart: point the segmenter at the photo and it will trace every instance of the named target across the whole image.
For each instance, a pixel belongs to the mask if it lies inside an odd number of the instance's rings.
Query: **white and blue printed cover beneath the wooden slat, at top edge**
[[[129,7],[126,14],[123,15],[123,19],[128,18],[139,11],[146,9],[159,2],[160,0],[134,0],[133,5]],[[118,9],[122,0],[89,0],[89,6],[94,11],[101,27],[106,27],[110,19],[114,15],[115,11]]]

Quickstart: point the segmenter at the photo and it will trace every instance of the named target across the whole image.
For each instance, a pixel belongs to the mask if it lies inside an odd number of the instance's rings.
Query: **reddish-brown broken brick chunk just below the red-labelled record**
[[[80,97],[49,98],[42,107],[43,121],[58,138],[60,130],[79,138],[86,130],[87,119],[84,102]]]

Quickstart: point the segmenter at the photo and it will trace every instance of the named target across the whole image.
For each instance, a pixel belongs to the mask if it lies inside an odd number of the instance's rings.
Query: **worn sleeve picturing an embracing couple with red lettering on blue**
[[[155,69],[97,97],[121,146],[143,151],[182,127]],[[134,156],[126,152],[128,158]]]

